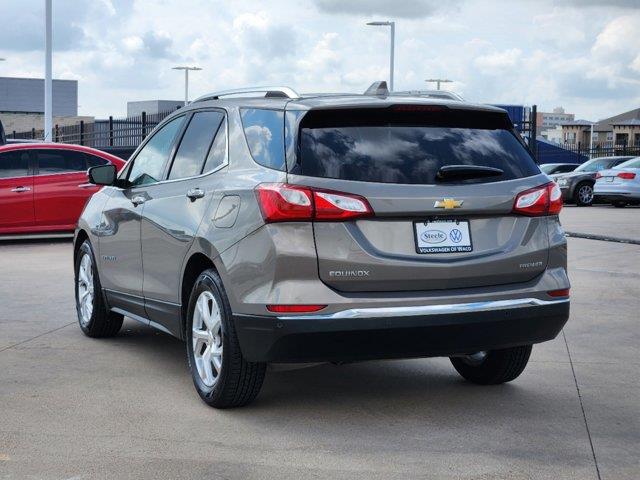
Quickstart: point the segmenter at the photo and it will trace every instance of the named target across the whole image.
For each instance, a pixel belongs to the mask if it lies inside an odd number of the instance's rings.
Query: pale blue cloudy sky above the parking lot
[[[0,76],[43,75],[44,0],[3,0]],[[54,76],[79,81],[80,113],[123,115],[128,100],[256,84],[361,92],[455,80],[468,100],[564,106],[598,119],[640,107],[640,0],[54,0]]]

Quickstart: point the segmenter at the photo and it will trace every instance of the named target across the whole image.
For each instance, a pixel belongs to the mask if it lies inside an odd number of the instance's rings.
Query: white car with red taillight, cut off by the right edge
[[[596,174],[593,196],[603,203],[622,208],[640,204],[640,157]]]

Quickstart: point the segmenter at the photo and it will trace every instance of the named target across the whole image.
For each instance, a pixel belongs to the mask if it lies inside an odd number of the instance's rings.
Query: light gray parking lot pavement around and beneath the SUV
[[[567,207],[640,240],[640,209]],[[640,478],[640,246],[569,239],[571,319],[512,384],[447,359],[268,373],[219,411],[181,342],[76,324],[69,241],[0,243],[0,478]]]

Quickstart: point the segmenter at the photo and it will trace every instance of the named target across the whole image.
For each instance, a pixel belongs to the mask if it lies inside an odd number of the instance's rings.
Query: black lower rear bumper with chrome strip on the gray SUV
[[[569,299],[345,310],[328,315],[235,315],[253,362],[355,361],[451,356],[551,340]]]

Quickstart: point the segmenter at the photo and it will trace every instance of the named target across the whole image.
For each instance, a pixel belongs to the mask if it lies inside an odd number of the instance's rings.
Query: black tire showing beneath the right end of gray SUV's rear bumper
[[[490,350],[484,360],[473,362],[465,357],[451,357],[451,363],[466,380],[478,385],[497,385],[520,376],[531,355],[531,345]]]

